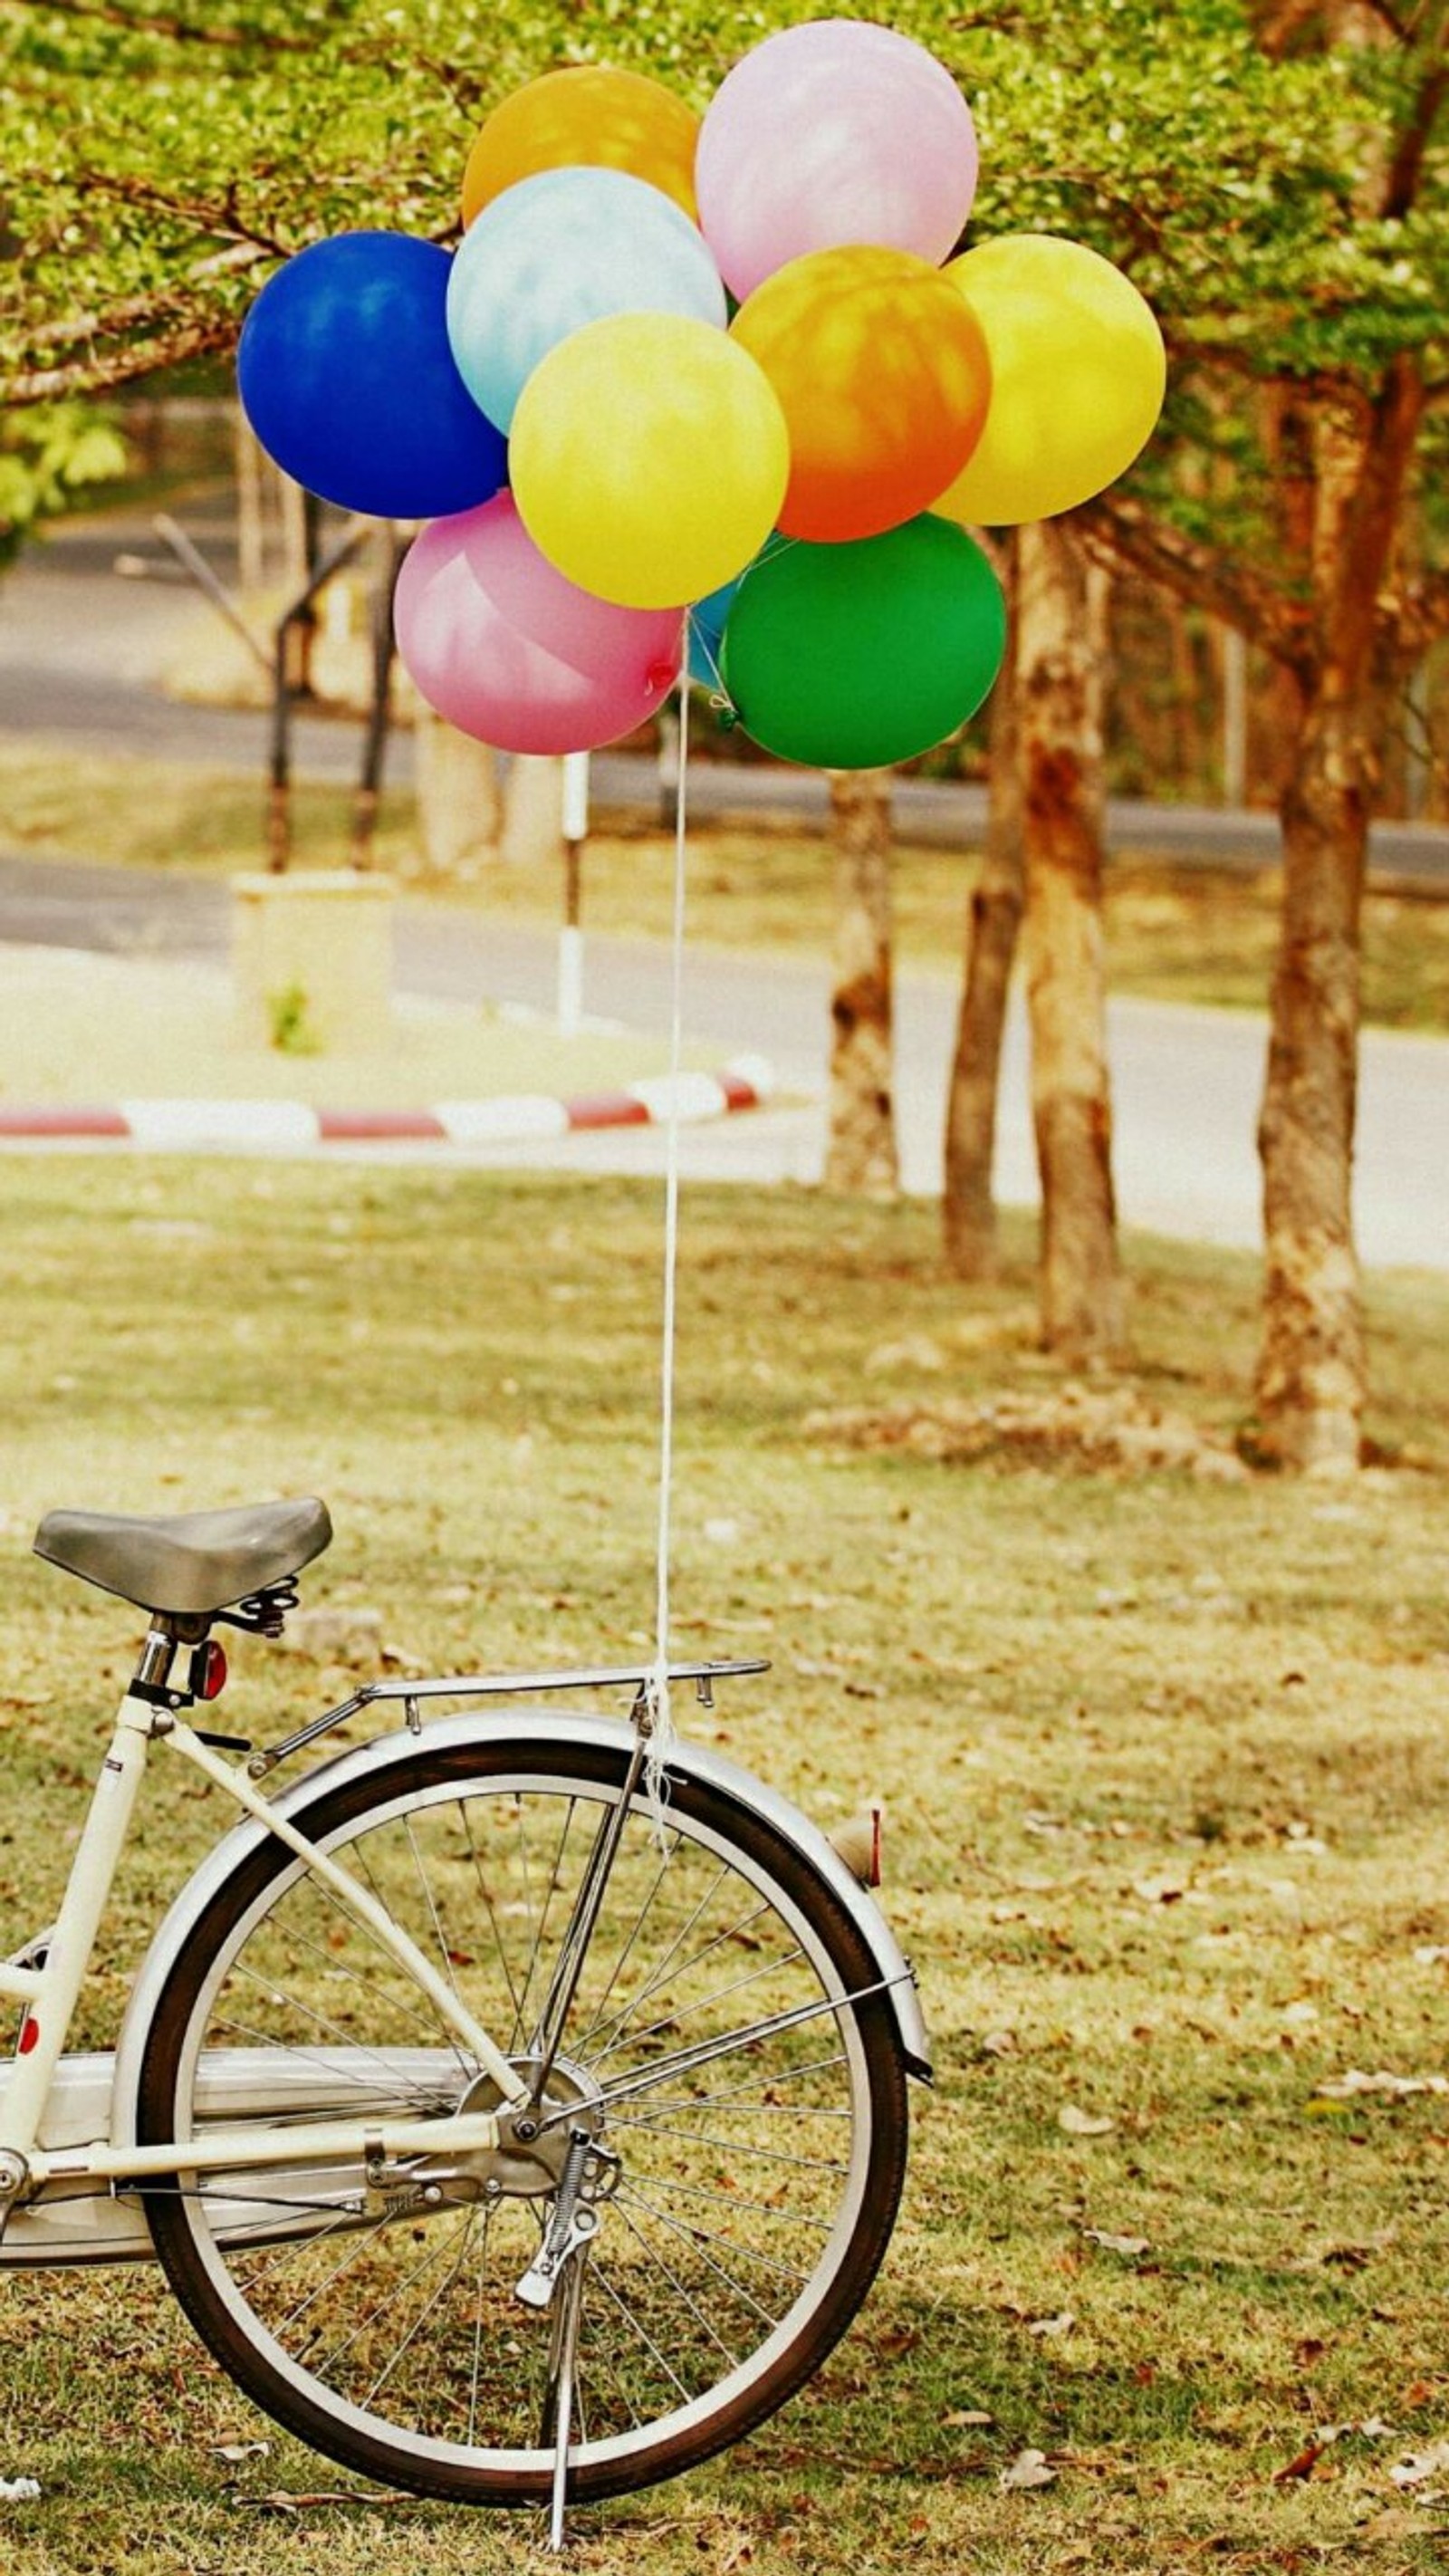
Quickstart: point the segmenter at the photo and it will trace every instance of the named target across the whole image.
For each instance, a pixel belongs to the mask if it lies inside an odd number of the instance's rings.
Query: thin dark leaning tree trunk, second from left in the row
[[[1014,595],[1014,546],[1009,605]],[[991,701],[991,783],[981,876],[965,914],[965,979],[947,1092],[942,1239],[963,1280],[996,1273],[996,1087],[1011,961],[1027,899],[1022,868],[1022,762],[1014,639]]]

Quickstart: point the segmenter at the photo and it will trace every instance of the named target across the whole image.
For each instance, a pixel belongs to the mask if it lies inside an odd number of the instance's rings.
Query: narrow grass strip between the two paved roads
[[[0,744],[0,842],[23,855],[95,858],[234,873],[263,863],[263,791],[237,773],[206,775],[157,760],[57,757]],[[296,863],[337,866],[347,796],[296,788]],[[427,891],[414,873],[412,799],[383,799],[376,860]],[[896,935],[906,966],[960,974],[975,853],[901,848]],[[484,886],[435,886],[494,914],[553,925],[553,876],[499,868]],[[600,933],[664,935],[669,848],[659,835],[600,832],[584,855],[584,922]],[[826,956],[831,866],[821,840],[795,832],[692,829],[690,938],[752,956]],[[1174,868],[1132,855],[1107,876],[1112,992],[1174,1002],[1266,1007],[1277,943],[1277,876]],[[1449,904],[1369,894],[1364,907],[1364,1012],[1387,1028],[1449,1025]]]

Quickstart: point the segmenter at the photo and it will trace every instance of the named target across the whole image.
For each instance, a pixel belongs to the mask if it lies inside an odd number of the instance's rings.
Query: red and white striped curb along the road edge
[[[718,1074],[667,1074],[618,1092],[551,1100],[515,1092],[497,1100],[440,1100],[427,1110],[314,1110],[304,1100],[116,1100],[108,1108],[13,1108],[0,1100],[0,1146],[134,1144],[149,1154],[286,1151],[314,1144],[551,1144],[592,1128],[664,1126],[669,1095],[682,1126],[754,1110],[775,1090],[762,1056],[739,1056]]]

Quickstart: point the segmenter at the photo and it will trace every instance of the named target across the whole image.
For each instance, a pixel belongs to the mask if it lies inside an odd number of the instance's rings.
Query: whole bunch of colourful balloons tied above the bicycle
[[[849,18],[754,46],[703,118],[546,72],[474,142],[456,255],[347,232],[270,278],[242,404],[311,492],[427,520],[396,641],[463,732],[592,750],[687,662],[785,760],[909,760],[1001,665],[968,528],[1102,492],[1163,399],[1096,252],[952,255],[975,167],[950,72]]]

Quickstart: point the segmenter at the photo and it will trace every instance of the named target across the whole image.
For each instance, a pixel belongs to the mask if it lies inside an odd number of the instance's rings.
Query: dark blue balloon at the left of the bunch
[[[247,314],[242,410],[268,456],[340,510],[453,518],[507,479],[507,443],[448,348],[450,268],[407,232],[337,232]]]

